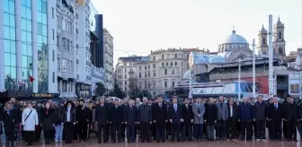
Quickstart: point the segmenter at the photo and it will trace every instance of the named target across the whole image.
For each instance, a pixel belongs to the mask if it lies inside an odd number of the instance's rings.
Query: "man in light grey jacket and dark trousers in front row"
[[[194,114],[193,131],[194,138],[196,140],[202,140],[203,138],[203,116],[205,113],[205,106],[200,102],[201,99],[196,99],[196,103],[192,106],[192,112]]]

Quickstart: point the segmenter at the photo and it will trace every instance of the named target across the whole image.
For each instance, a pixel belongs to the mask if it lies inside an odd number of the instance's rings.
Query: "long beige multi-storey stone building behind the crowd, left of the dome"
[[[209,54],[198,48],[168,48],[151,51],[149,56],[120,57],[117,83],[126,93],[134,88],[131,82],[136,82],[138,89],[147,90],[152,96],[173,94],[177,85],[187,82],[182,75],[189,70],[191,52]]]

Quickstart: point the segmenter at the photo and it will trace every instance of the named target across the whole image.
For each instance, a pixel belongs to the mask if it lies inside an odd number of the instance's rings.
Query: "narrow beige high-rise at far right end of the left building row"
[[[103,69],[105,71],[105,87],[107,92],[113,91],[113,37],[103,29]]]

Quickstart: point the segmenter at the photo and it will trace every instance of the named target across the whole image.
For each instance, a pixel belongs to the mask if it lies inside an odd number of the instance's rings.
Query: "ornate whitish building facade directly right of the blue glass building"
[[[56,6],[57,29],[55,34],[58,53],[58,92],[60,97],[64,98],[76,97],[75,66],[79,63],[76,60],[76,49],[78,49],[78,46],[76,46],[76,39],[78,38],[76,24],[79,21],[78,13],[75,11],[77,7],[78,4],[70,0],[58,0]]]

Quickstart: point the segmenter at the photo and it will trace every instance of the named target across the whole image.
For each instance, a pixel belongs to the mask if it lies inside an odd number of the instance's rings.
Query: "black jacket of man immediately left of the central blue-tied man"
[[[168,120],[168,108],[165,103],[162,103],[162,108],[159,107],[159,104],[154,104],[153,107],[153,120],[156,121],[156,124],[163,125],[165,124],[165,121]]]

